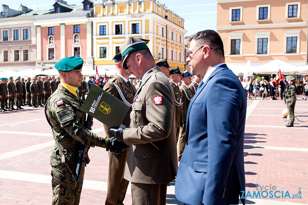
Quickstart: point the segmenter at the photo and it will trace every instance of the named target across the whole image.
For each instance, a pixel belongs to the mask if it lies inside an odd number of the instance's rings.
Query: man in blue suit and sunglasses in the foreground
[[[176,198],[190,205],[238,204],[245,191],[245,91],[225,64],[217,32],[200,31],[189,41],[186,61],[191,73],[203,80],[187,111]],[[245,204],[245,199],[241,201]]]

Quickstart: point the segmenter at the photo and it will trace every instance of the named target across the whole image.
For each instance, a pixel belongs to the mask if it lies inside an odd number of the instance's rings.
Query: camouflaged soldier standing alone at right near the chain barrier
[[[294,127],[294,107],[296,102],[296,87],[294,85],[295,78],[293,76],[287,76],[288,85],[285,90],[285,102],[288,106],[290,122],[286,124],[286,127]]]

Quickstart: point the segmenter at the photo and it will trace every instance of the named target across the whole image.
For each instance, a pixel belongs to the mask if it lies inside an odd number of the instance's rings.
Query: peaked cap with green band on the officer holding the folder
[[[122,67],[124,70],[128,69],[128,67],[125,64],[125,60],[129,56],[129,54],[137,50],[149,49],[147,46],[147,43],[149,41],[150,40],[132,37],[132,36],[128,37],[128,39],[125,40],[124,44],[122,44],[119,48],[122,54],[122,60],[123,60]]]

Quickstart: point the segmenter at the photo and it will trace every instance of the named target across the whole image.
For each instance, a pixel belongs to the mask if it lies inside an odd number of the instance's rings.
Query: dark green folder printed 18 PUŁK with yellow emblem
[[[81,108],[82,111],[110,128],[120,127],[128,109],[128,105],[95,84],[91,85],[91,89]]]

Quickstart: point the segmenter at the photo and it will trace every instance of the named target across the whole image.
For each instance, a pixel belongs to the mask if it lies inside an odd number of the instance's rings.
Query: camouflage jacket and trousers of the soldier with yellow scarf
[[[58,105],[57,105],[58,104]],[[52,128],[52,136],[60,144],[71,168],[76,169],[81,143],[87,146],[105,148],[107,138],[99,137],[83,127],[86,113],[81,111],[82,101],[62,85],[47,100],[45,115]],[[64,147],[70,145],[71,149]],[[75,148],[74,148],[75,147]],[[50,165],[52,166],[52,204],[77,205],[80,200],[82,184],[73,181],[72,174],[59,154],[55,144],[51,150]],[[84,167],[82,169],[82,178]]]

